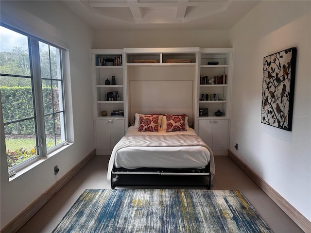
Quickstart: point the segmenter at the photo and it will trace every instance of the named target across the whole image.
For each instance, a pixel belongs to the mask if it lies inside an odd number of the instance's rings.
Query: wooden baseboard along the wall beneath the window
[[[35,215],[52,197],[62,188],[69,180],[81,170],[93,157],[95,150],[92,150],[83,160],[76,166],[71,168],[66,175],[59,179],[47,191],[45,191],[39,198],[31,203],[23,212],[14,218],[8,225],[6,225],[1,233],[15,233],[17,232],[32,216]]]

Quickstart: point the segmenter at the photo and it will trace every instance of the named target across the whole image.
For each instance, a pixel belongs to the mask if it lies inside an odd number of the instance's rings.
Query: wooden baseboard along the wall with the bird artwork
[[[266,183],[231,150],[228,150],[228,156],[301,228],[301,230],[304,232],[311,232],[311,222],[305,216],[279,195],[276,190]]]

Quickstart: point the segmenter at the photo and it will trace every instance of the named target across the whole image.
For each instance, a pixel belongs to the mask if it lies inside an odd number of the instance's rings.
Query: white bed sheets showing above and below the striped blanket
[[[133,126],[127,134],[168,134],[165,130],[158,132],[138,132]],[[193,134],[193,129],[187,131],[170,132],[170,134]],[[162,168],[204,168],[210,160],[210,153],[205,147],[127,147],[118,150],[115,166],[134,169],[139,167]]]

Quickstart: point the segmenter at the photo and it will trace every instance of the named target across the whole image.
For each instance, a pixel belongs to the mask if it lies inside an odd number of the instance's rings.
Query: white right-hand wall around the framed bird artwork
[[[311,2],[261,1],[231,30],[230,150],[311,220]],[[263,57],[297,47],[293,130],[260,123]],[[235,143],[239,150],[235,150]]]

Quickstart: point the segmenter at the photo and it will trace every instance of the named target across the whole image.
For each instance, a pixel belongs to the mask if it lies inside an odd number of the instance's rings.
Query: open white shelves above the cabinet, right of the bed
[[[200,49],[198,118],[214,118],[218,109],[223,116],[217,117],[230,118],[232,52],[231,48]],[[207,65],[209,62],[217,65]]]

